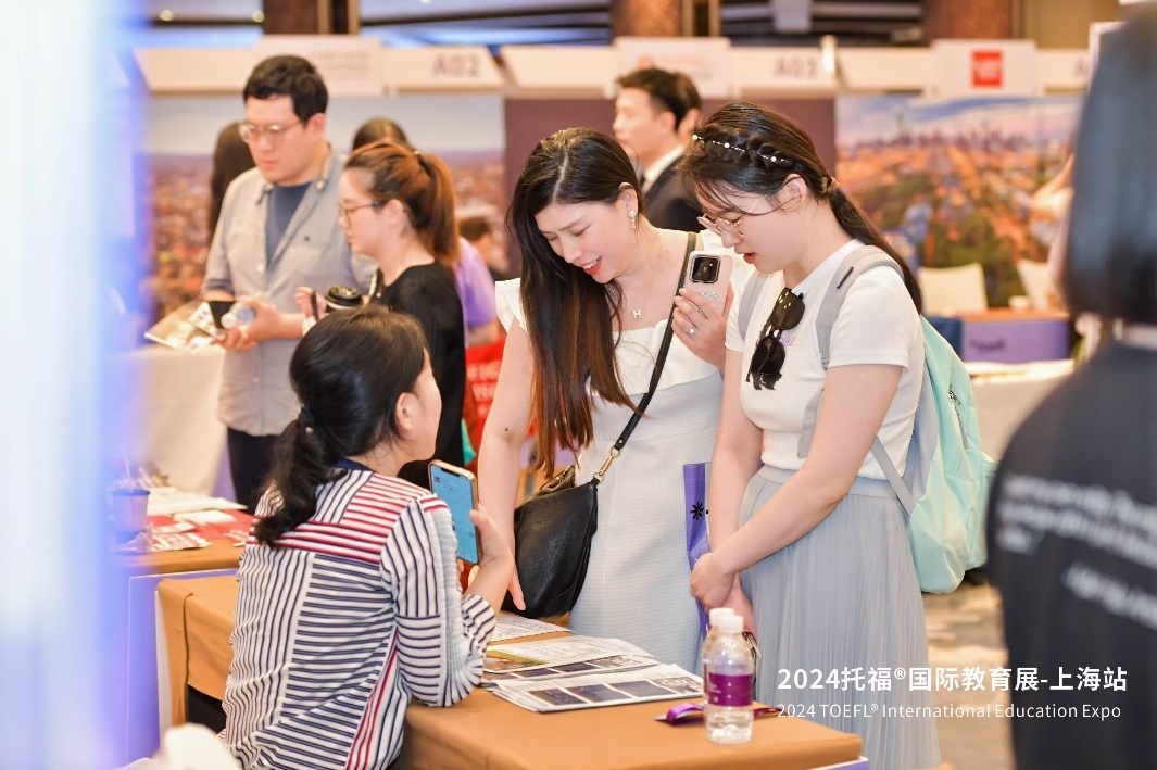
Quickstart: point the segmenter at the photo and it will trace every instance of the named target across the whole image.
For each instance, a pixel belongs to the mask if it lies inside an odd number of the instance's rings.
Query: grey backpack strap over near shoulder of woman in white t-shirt
[[[891,267],[900,274],[901,279],[904,277],[904,268],[894,259],[877,246],[870,245],[860,246],[845,257],[843,261],[840,262],[840,267],[835,271],[835,277],[828,284],[827,293],[824,295],[824,299],[819,305],[819,312],[816,316],[816,340],[819,343],[819,358],[824,365],[824,371],[827,371],[827,364],[832,360],[832,330],[835,327],[835,319],[840,314],[840,308],[843,306],[843,301],[847,298],[848,291],[857,277],[872,268],[882,266]],[[820,387],[811,401],[808,402],[808,408],[804,410],[803,432],[799,436],[798,449],[801,458],[808,457],[808,452],[811,451],[811,439],[816,434],[816,421],[819,416],[819,401],[823,394],[824,388]],[[904,510],[911,516],[916,501],[908,484],[905,483],[896,469],[892,458],[887,456],[887,451],[884,449],[884,444],[879,440],[878,435],[872,439],[871,454],[876,458],[889,483],[892,484],[892,489],[900,499],[900,504],[904,505]]]

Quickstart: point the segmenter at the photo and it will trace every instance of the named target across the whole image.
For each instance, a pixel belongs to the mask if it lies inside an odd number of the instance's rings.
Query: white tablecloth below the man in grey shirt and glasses
[[[211,346],[184,353],[149,345],[115,358],[125,393],[124,452],[132,462],[153,462],[182,489],[231,497],[226,429],[216,419],[224,350]]]

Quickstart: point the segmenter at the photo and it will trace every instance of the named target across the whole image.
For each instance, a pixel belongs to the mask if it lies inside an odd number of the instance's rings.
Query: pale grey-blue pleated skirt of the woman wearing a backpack
[[[790,475],[756,474],[739,524]],[[754,608],[760,701],[858,734],[872,770],[939,764],[931,693],[911,687],[911,669],[928,668],[928,632],[904,508],[886,481],[856,479],[815,530],[745,570],[742,584]]]

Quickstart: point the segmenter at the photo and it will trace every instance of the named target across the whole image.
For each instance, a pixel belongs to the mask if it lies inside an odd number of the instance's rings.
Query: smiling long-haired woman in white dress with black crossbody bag
[[[545,467],[563,447],[578,456],[576,483],[590,480],[647,392],[673,299],[658,388],[598,487],[598,532],[570,628],[698,671],[683,467],[710,459],[725,311],[750,269],[736,264],[723,313],[695,293],[676,298],[687,234],[651,225],[638,185],[622,148],[591,129],[561,131],[531,153],[508,213],[523,277],[499,284],[509,336],[479,486],[513,545],[518,458],[532,423]],[[523,607],[517,576],[510,590]]]

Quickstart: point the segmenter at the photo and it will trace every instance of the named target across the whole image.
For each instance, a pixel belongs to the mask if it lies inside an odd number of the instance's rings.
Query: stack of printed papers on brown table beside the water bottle
[[[492,646],[482,687],[530,711],[572,711],[702,695],[702,680],[621,639],[572,636]]]

